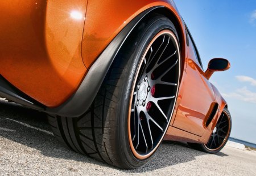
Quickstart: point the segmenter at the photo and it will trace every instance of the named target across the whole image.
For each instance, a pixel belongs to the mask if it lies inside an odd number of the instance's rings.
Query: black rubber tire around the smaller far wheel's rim
[[[218,145],[214,145],[213,147],[210,147],[209,142],[212,139],[212,136],[210,136],[209,141],[207,144],[195,144],[195,143],[188,143],[189,147],[193,148],[193,149],[197,149],[199,151],[203,151],[206,153],[210,153],[210,154],[214,154],[214,153],[218,153],[221,151],[222,148],[225,147],[228,139],[229,139],[229,135],[231,132],[231,128],[232,128],[232,119],[231,119],[231,115],[229,113],[229,110],[227,108],[224,108],[221,114],[221,117],[218,119],[217,125],[218,123],[221,123],[222,117],[223,115],[225,115],[225,118],[228,119],[228,123],[227,123],[227,128],[226,128],[226,135],[225,138],[220,141],[220,144]],[[216,125],[216,126],[217,126]],[[223,127],[223,126],[222,126]],[[216,131],[217,133],[218,131]],[[213,135],[213,134],[212,134]]]

